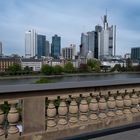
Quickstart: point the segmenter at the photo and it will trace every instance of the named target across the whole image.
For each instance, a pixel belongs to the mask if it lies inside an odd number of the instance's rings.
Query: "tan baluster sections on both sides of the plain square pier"
[[[93,130],[105,129],[128,124],[140,118],[140,91],[135,89],[123,92],[121,90],[66,92],[43,95],[42,98],[46,105],[44,109],[46,133],[73,128],[83,129],[88,125],[92,125]],[[22,118],[25,110],[22,103],[24,100],[26,99],[0,100],[0,139],[19,137],[21,132],[19,124],[23,127],[22,135],[26,134],[24,132],[26,117]],[[6,111],[5,102],[9,106]]]

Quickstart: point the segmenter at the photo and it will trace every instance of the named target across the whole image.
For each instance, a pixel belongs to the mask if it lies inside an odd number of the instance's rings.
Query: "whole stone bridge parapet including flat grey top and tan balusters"
[[[92,138],[140,126],[140,79],[0,86],[0,139]]]

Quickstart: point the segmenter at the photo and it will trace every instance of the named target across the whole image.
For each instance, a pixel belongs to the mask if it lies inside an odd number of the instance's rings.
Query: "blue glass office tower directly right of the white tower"
[[[36,56],[41,58],[42,56],[46,56],[46,36],[45,35],[37,35],[37,52]]]

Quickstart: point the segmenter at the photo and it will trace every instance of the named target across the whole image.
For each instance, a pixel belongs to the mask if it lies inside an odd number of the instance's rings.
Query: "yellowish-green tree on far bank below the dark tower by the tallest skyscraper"
[[[96,59],[88,59],[87,65],[95,72],[100,72],[101,63],[99,60]]]

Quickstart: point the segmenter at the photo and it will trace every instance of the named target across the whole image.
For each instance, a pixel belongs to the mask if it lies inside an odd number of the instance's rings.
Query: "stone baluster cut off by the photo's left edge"
[[[3,122],[4,122],[4,112],[1,110],[1,104],[3,102],[0,102],[0,138],[4,137],[4,130],[3,130]]]

